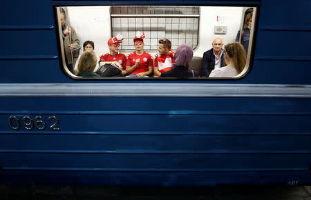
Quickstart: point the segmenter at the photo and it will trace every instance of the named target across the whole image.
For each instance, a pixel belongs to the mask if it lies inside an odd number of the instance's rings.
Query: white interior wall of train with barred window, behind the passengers
[[[67,23],[75,28],[79,37],[79,51],[82,54],[84,41],[94,41],[94,52],[97,57],[109,52],[107,41],[117,34],[124,40],[119,48],[126,56],[135,51],[133,38],[140,31],[146,35],[144,51],[153,57],[158,53],[159,39],[169,39],[174,52],[182,43],[189,44],[194,50],[190,64],[191,70],[201,74],[201,62],[204,52],[212,48],[215,38],[223,40],[223,46],[234,41],[241,41],[241,30],[247,27],[245,18],[252,14],[256,19],[256,7],[224,6],[68,6],[56,7],[58,24],[61,24],[59,10],[64,9]],[[62,29],[59,27],[59,38]],[[233,77],[243,77],[249,72],[252,57],[255,23],[250,26],[249,48],[245,50],[247,62],[244,70]],[[243,32],[243,31],[242,31]],[[64,70],[76,77],[66,68],[63,41],[59,39]]]

